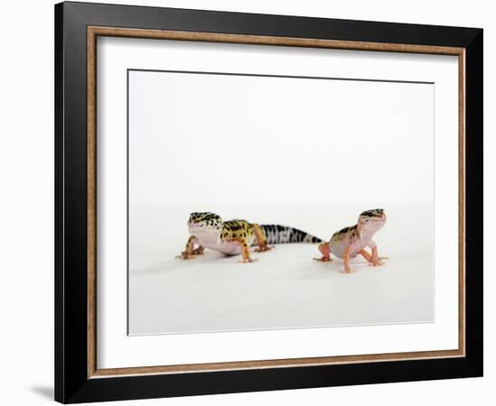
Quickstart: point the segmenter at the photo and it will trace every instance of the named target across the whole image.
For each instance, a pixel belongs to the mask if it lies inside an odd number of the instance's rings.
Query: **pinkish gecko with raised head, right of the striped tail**
[[[377,245],[372,236],[386,224],[386,214],[382,208],[364,211],[354,226],[344,227],[335,232],[328,243],[318,245],[318,251],[322,258],[314,258],[317,261],[332,261],[331,253],[344,260],[344,273],[351,272],[350,258],[361,254],[363,258],[374,266],[381,265],[381,260],[388,259],[377,254]],[[372,254],[365,251],[365,247],[372,248]]]

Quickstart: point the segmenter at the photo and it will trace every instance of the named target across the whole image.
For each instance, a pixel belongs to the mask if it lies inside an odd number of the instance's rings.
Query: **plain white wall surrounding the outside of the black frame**
[[[210,8],[217,10],[246,11],[253,13],[299,14],[376,21],[433,23],[484,28],[485,92],[485,207],[496,205],[496,164],[491,156],[496,152],[494,138],[496,121],[490,113],[496,108],[496,79],[491,71],[496,69],[494,52],[496,31],[494,11],[490,2],[474,0],[467,7],[464,1],[432,2],[418,0],[415,6],[406,7],[392,0],[369,2],[326,3],[321,1],[267,2],[262,0],[120,0],[122,4],[165,5],[174,7]],[[5,19],[0,27],[5,55],[10,63],[0,65],[3,78],[3,97],[0,106],[4,135],[0,139],[0,173],[5,196],[0,202],[4,213],[3,233],[0,242],[4,283],[0,296],[2,324],[2,359],[0,372],[4,385],[2,401],[11,405],[53,404],[52,397],[52,340],[53,340],[53,10],[52,1],[10,2],[5,4]],[[446,8],[448,7],[448,8]],[[446,13],[449,9],[449,13]],[[25,30],[19,30],[23,15]],[[14,33],[14,34],[13,34]],[[33,69],[34,62],[36,63]],[[489,72],[489,73],[488,73]],[[29,97],[21,86],[29,89]],[[29,119],[26,113],[29,112]],[[22,159],[20,159],[22,156]],[[29,162],[26,163],[26,162]],[[35,201],[35,204],[33,204]],[[22,224],[23,226],[20,226]],[[496,244],[491,229],[496,218],[486,217],[484,227],[485,252]],[[485,261],[484,301],[486,311],[485,342],[495,339],[496,321],[491,309],[496,307],[496,297],[491,295],[496,282],[491,272],[489,255]],[[36,341],[35,341],[36,340]],[[123,405],[252,405],[257,404],[312,404],[328,405],[332,402],[381,405],[417,406],[426,399],[451,405],[466,405],[475,397],[488,404],[496,384],[496,351],[485,348],[485,377],[433,381],[420,383],[390,383],[381,385],[321,388],[304,391],[240,393],[231,395],[201,396],[169,400],[115,402]],[[26,363],[29,362],[29,367]]]

